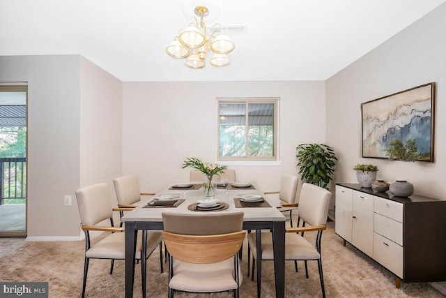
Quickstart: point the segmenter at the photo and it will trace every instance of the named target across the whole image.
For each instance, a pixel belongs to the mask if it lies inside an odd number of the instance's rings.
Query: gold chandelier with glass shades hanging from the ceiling
[[[209,14],[208,8],[197,6],[194,9],[194,14],[194,22],[180,30],[178,36],[166,48],[167,54],[174,58],[187,58],[186,66],[190,68],[203,68],[206,56],[211,50],[213,57],[210,59],[210,65],[228,65],[230,61],[226,54],[232,52],[236,46],[229,36],[223,33],[221,24],[214,24],[208,30],[203,20]]]

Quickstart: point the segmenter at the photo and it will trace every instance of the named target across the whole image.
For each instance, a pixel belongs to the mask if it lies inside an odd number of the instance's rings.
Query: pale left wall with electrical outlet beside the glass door
[[[28,236],[79,235],[79,56],[0,57],[0,82],[28,82]]]

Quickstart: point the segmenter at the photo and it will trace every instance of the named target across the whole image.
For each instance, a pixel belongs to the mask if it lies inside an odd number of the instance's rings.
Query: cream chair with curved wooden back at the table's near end
[[[233,291],[238,297],[238,264],[245,232],[243,212],[231,214],[162,213],[162,237],[169,251],[169,298],[174,291]],[[224,224],[222,224],[224,223]]]

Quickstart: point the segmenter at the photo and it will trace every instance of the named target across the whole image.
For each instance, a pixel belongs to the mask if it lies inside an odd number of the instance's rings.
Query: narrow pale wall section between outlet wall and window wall
[[[122,82],[81,57],[80,186],[107,182],[122,172]]]

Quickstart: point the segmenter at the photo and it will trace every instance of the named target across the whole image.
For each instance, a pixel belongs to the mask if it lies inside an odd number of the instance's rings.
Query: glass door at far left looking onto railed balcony
[[[0,237],[26,237],[26,86],[0,86]]]

